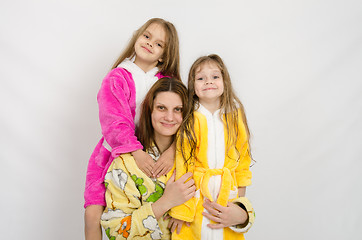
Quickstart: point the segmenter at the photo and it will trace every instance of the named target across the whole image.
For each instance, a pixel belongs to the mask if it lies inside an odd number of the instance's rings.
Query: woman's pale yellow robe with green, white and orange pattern
[[[151,179],[138,167],[129,153],[113,160],[105,176],[107,206],[101,225],[111,240],[170,239],[168,220],[158,221],[152,203],[163,194],[172,175]]]

